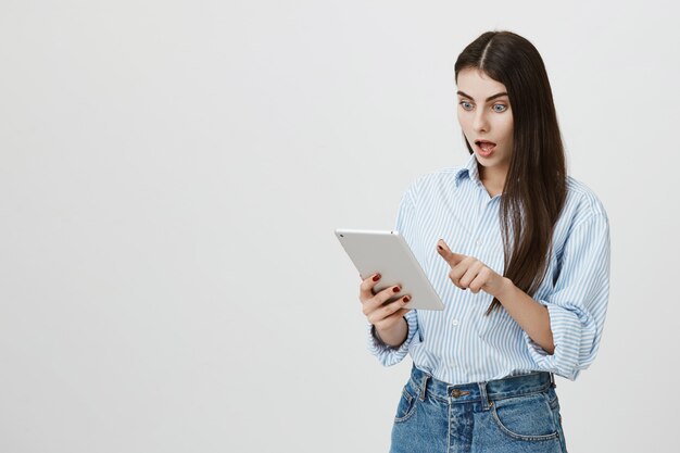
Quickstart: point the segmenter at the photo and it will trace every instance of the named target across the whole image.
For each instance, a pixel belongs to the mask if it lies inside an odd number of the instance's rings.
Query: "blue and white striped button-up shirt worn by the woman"
[[[575,380],[593,362],[609,293],[609,222],[602,202],[568,176],[546,277],[531,294],[550,314],[555,350],[547,354],[502,307],[484,316],[493,297],[454,286],[451,267],[436,250],[443,238],[452,251],[475,256],[503,275],[501,197],[490,197],[481,184],[475,154],[465,166],[423,175],[407,187],[394,229],[404,236],[445,306],[410,311],[408,335],[400,348],[379,341],[368,324],[368,349],[382,365],[411,354],[418,368],[456,385],[533,370]]]

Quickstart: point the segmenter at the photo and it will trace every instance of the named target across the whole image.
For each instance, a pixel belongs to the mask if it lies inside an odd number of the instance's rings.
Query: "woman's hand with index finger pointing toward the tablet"
[[[507,278],[499,275],[475,256],[453,253],[443,239],[437,241],[437,251],[451,266],[449,278],[456,287],[463,290],[469,288],[475,294],[483,290],[495,298],[506,287]]]

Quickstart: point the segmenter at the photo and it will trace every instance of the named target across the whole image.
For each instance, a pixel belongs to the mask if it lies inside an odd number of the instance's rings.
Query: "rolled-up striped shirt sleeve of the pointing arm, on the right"
[[[609,297],[609,223],[593,214],[574,227],[564,246],[562,268],[552,294],[537,301],[547,307],[555,350],[547,354],[526,331],[537,365],[575,380],[594,361]]]

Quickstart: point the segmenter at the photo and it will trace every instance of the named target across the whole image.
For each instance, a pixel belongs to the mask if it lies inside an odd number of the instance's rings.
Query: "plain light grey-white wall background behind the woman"
[[[453,63],[545,62],[612,227],[569,452],[670,451],[673,2],[0,1],[0,451],[382,452],[411,358],[366,351],[337,227],[468,156]]]

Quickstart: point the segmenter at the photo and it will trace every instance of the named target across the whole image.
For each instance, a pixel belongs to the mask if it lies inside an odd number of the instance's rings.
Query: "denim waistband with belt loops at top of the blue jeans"
[[[556,387],[555,377],[547,372],[534,372],[483,382],[451,385],[436,379],[415,365],[411,372],[411,381],[421,400],[425,399],[426,393],[429,393],[437,399],[450,401],[452,404],[481,401],[484,406],[492,400],[538,393]]]

